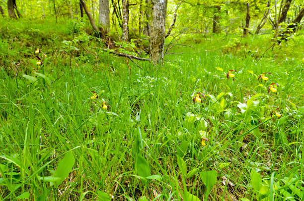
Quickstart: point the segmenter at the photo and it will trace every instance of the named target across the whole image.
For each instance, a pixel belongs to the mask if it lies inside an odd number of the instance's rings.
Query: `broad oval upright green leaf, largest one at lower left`
[[[58,188],[59,185],[69,176],[75,163],[75,157],[71,151],[66,153],[65,157],[58,163],[57,169],[53,175],[54,178],[60,177],[61,179],[54,183],[55,187]],[[51,185],[52,185],[51,183]]]

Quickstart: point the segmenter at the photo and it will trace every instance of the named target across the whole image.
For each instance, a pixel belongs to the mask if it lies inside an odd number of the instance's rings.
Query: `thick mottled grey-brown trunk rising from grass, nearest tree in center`
[[[152,26],[150,35],[150,61],[154,64],[163,61],[165,39],[165,1],[152,0]]]

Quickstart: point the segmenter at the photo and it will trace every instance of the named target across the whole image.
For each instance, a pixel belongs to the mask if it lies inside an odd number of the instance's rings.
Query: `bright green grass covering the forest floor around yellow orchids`
[[[188,44],[195,50],[176,46],[198,53],[166,55],[176,62],[162,67],[129,61],[129,76],[126,59],[99,49],[98,39],[75,34],[92,54],[65,45],[73,23],[2,22],[1,199],[206,200],[206,181],[214,179],[208,200],[302,199],[303,61],[287,43],[261,58],[269,38],[242,39],[238,49],[214,36]],[[37,35],[25,31],[39,27]],[[31,61],[36,48],[48,55],[41,69]],[[234,81],[226,78],[230,69]],[[35,72],[52,84],[22,76]],[[259,86],[264,72],[272,74]],[[279,84],[277,94],[267,93],[271,83]],[[193,104],[197,92],[206,96],[202,104]],[[271,117],[274,111],[282,116]],[[209,140],[204,147],[201,138]]]

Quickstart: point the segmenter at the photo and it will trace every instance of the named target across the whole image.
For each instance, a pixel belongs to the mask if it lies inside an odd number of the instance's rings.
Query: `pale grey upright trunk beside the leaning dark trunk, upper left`
[[[110,31],[110,11],[109,0],[99,0],[99,27],[101,27],[105,33]]]

